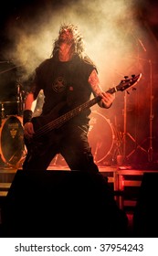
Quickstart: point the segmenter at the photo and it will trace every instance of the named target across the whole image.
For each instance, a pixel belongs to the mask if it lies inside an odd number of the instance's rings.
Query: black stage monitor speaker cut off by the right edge
[[[133,214],[136,237],[158,237],[158,173],[144,173]]]

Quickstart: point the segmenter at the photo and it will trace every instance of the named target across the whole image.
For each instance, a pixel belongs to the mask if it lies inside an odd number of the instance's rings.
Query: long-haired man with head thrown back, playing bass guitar
[[[44,91],[44,105],[36,119],[32,118],[31,107],[41,90]],[[24,170],[46,170],[55,155],[61,154],[71,170],[99,172],[88,142],[90,108],[48,133],[35,136],[43,124],[49,125],[62,114],[90,101],[91,93],[100,95],[98,103],[101,108],[111,107],[114,94],[101,90],[97,68],[85,54],[78,27],[63,24],[50,59],[37,67],[26,95],[23,122],[27,155]]]

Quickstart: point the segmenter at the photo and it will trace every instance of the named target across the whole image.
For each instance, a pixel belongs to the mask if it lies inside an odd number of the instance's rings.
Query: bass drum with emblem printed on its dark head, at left
[[[5,166],[19,167],[25,152],[22,117],[11,115],[2,120],[0,154]]]

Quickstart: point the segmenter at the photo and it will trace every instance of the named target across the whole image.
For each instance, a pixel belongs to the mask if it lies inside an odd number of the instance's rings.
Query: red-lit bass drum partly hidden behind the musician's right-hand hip
[[[92,111],[88,136],[94,162],[111,165],[114,132],[110,120],[99,112]]]

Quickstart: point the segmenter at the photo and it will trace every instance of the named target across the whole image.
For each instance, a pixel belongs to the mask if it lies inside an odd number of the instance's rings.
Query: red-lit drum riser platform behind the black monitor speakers
[[[149,166],[151,166],[151,168],[149,168]],[[2,224],[1,208],[18,169],[14,167],[0,167],[0,224]],[[99,165],[99,170],[102,176],[108,177],[108,182],[114,193],[114,198],[119,208],[123,209],[126,212],[129,219],[130,229],[132,229],[133,213],[138,201],[139,189],[140,187],[142,187],[142,176],[145,173],[158,174],[157,165],[143,165],[140,166],[139,169],[132,168],[131,165]],[[48,166],[47,171],[69,172],[69,169],[66,165],[51,164]],[[156,176],[156,179],[158,180],[158,176]],[[155,180],[153,181],[154,182],[152,183],[155,184]],[[153,184],[149,184],[149,187],[147,187],[147,189],[151,190],[150,187],[152,186]],[[155,188],[155,190],[157,190],[157,188]]]

